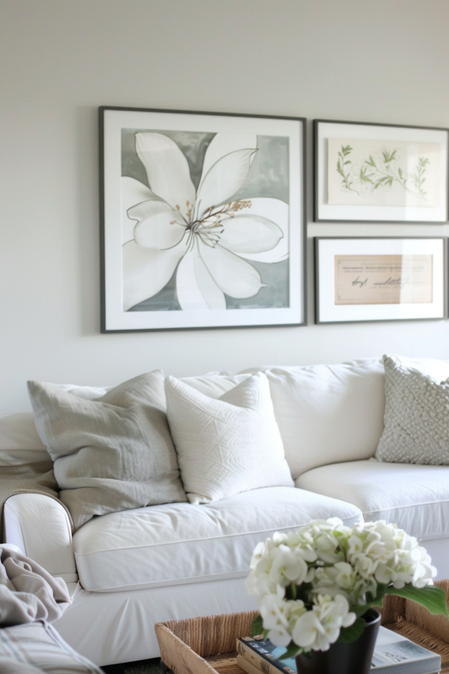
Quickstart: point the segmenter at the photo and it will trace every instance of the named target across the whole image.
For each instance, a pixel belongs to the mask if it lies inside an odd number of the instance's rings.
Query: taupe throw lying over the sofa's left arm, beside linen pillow
[[[53,462],[38,461],[29,464],[22,464],[20,466],[1,466],[0,468],[0,512],[1,512],[1,527],[0,527],[0,543],[5,542],[5,532],[3,527],[3,505],[6,499],[15,494],[35,493],[45,494],[53,499],[58,498],[59,487],[55,480],[55,473],[53,472]],[[69,511],[63,503],[63,508],[69,516],[69,522],[73,531],[73,522]]]

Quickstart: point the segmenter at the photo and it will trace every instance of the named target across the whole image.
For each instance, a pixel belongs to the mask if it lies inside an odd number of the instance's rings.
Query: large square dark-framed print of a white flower
[[[305,121],[100,108],[102,332],[305,323]]]

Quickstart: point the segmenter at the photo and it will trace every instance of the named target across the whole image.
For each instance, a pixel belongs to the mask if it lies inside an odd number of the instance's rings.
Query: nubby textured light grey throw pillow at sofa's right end
[[[385,415],[376,458],[449,465],[449,383],[384,356]]]

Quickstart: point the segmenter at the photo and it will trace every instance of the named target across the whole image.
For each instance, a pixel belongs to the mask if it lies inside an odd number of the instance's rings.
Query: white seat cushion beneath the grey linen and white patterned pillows
[[[85,590],[131,590],[249,573],[254,547],[315,518],[361,517],[350,503],[294,487],[254,489],[203,505],[172,503],[94,518],[73,537]]]

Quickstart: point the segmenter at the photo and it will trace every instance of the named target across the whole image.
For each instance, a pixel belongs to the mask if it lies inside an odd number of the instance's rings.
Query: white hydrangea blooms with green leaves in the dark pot
[[[250,569],[246,588],[260,611],[252,636],[263,634],[287,647],[285,657],[357,640],[364,632],[362,616],[380,607],[385,594],[448,615],[425,549],[384,521],[349,527],[331,518],[275,533],[258,543]]]

